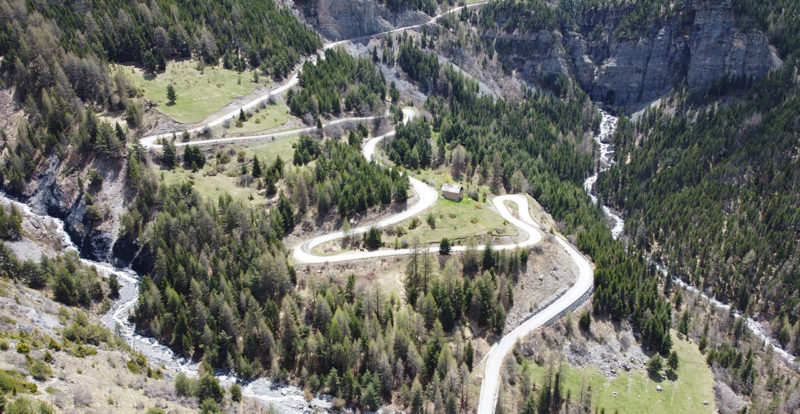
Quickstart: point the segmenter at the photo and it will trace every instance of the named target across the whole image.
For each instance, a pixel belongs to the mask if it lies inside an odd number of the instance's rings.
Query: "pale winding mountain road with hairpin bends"
[[[390,30],[387,32],[377,33],[369,36],[363,36],[355,39],[348,39],[348,40],[341,40],[336,42],[329,42],[323,46],[323,49],[330,49],[332,47],[336,47],[347,42],[359,41],[359,40],[367,40],[370,38],[383,36],[390,33],[397,33],[409,29],[419,28],[425,25],[434,24],[443,16],[456,13],[461,11],[464,8],[471,9],[475,7],[480,7],[487,2],[477,2],[467,6],[460,6],[449,11],[440,13],[434,17],[432,17],[428,22],[406,26],[402,28],[397,28],[394,30]],[[308,61],[316,63],[317,59],[321,58],[320,54],[310,57]],[[254,108],[256,105],[266,101],[271,96],[275,96],[286,92],[293,86],[298,84],[298,70],[292,73],[292,75],[284,82],[282,85],[276,87],[275,89],[271,90],[266,95],[260,96],[253,101],[243,105],[241,109],[249,110]],[[408,122],[414,116],[416,116],[416,111],[411,108],[403,109],[404,119],[403,122]],[[189,133],[196,133],[198,131],[202,131],[207,127],[214,127],[221,125],[227,120],[233,119],[234,117],[239,115],[239,110],[231,111],[229,113],[224,113],[218,117],[213,118],[210,122],[207,122],[204,125],[191,128],[186,130]],[[358,121],[368,121],[373,120],[376,118],[384,117],[382,116],[372,116],[372,117],[354,117],[354,118],[344,118],[339,120],[334,120],[325,124],[325,126],[346,123],[346,122],[358,122]],[[200,141],[193,141],[193,142],[176,142],[176,146],[183,146],[183,145],[213,145],[213,144],[220,144],[220,143],[233,143],[233,142],[243,142],[243,141],[250,141],[250,140],[259,140],[259,139],[266,139],[266,138],[278,138],[278,137],[285,137],[303,133],[309,133],[315,130],[314,127],[308,128],[299,128],[289,131],[282,131],[276,132],[271,134],[257,134],[257,135],[248,135],[248,136],[238,136],[238,137],[229,137],[229,138],[217,138],[217,139],[208,139],[208,140],[200,140]],[[183,130],[175,131],[174,133],[182,133]],[[391,137],[395,134],[395,131],[388,132],[378,137],[374,137],[367,141],[362,148],[362,154],[364,157],[372,161],[375,159],[375,149],[377,144],[387,138]],[[157,144],[158,140],[161,138],[168,138],[173,135],[173,132],[168,133],[161,133],[156,135],[151,135],[140,140],[140,143],[145,148],[159,148],[160,145]],[[431,186],[425,184],[424,182],[409,176],[411,188],[414,192],[419,196],[416,203],[413,205],[407,206],[403,211],[394,214],[392,216],[386,217],[380,220],[378,223],[372,226],[361,226],[350,231],[350,235],[361,234],[369,230],[370,227],[376,228],[383,228],[387,226],[391,226],[397,223],[400,223],[408,218],[414,217],[429,207],[433,206],[433,204],[438,199],[439,195],[438,192],[432,188]],[[515,217],[511,210],[506,205],[506,202],[516,204],[517,211],[519,217]],[[530,216],[529,212],[529,205],[528,205],[528,198],[525,195],[519,194],[511,194],[511,195],[502,195],[497,196],[492,199],[492,204],[494,205],[497,212],[509,223],[514,225],[520,230],[520,236],[525,237],[523,240],[518,241],[516,243],[511,244],[504,244],[504,245],[497,245],[493,246],[496,250],[506,250],[506,249],[515,249],[515,248],[525,248],[531,247],[535,244],[539,243],[542,239],[542,232],[540,226],[533,220]],[[523,236],[524,235],[524,236]],[[370,252],[345,252],[334,256],[319,256],[312,252],[313,248],[319,246],[320,244],[337,240],[343,238],[345,235],[342,231],[332,232],[329,234],[325,234],[322,236],[314,237],[310,240],[300,243],[299,245],[295,246],[292,250],[292,256],[295,261],[298,263],[332,263],[332,262],[345,262],[345,261],[352,261],[352,260],[362,260],[362,259],[372,259],[378,257],[387,257],[387,256],[398,256],[398,255],[408,255],[411,254],[411,249],[397,249],[397,250],[377,250],[377,251],[370,251]],[[489,350],[488,354],[485,357],[486,361],[486,368],[484,373],[484,380],[481,386],[481,394],[480,400],[478,405],[478,413],[479,414],[492,414],[494,413],[495,405],[497,402],[498,391],[500,389],[500,369],[503,364],[503,360],[508,355],[508,353],[513,349],[516,345],[517,341],[523,338],[524,336],[528,335],[533,330],[545,325],[549,321],[559,317],[565,311],[570,309],[571,307],[578,304],[581,299],[591,291],[593,286],[593,269],[592,265],[590,264],[589,260],[583,256],[574,246],[568,243],[563,237],[557,236],[557,242],[567,250],[567,253],[575,262],[578,267],[578,279],[576,283],[565,292],[561,297],[559,297],[555,302],[551,303],[541,311],[531,315],[525,322],[521,325],[517,326],[514,330],[510,333],[505,335],[503,338],[500,339],[497,343],[495,343],[491,349]],[[478,249],[483,248],[483,246],[478,246]],[[465,246],[454,246],[451,250],[452,251],[464,251],[466,249]],[[435,252],[438,251],[438,246],[427,247],[424,251],[428,252]],[[257,394],[257,393],[256,393]]]

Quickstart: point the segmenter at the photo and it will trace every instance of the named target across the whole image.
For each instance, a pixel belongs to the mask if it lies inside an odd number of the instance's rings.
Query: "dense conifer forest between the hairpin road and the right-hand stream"
[[[408,42],[403,47],[416,48]],[[566,100],[532,93],[522,102],[507,102],[479,97],[453,69],[435,75],[433,84],[442,92],[425,106],[440,133],[439,162],[446,162],[457,179],[476,178],[496,192],[531,194],[563,223],[562,230],[577,236],[578,247],[595,262],[594,311],[632,322],[645,347],[667,355],[671,306],[659,293],[658,273],[611,238],[602,213],[581,186],[593,165],[588,154],[576,150],[593,122],[584,115],[591,107],[586,95],[573,89]]]

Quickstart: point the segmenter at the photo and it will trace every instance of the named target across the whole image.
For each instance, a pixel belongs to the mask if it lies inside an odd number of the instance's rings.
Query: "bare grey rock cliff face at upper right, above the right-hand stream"
[[[679,7],[675,17],[637,39],[613,35],[624,9],[584,16],[580,28],[567,33],[485,36],[524,79],[571,76],[592,99],[625,107],[651,102],[684,83],[701,88],[725,74],[758,79],[782,64],[763,33],[736,26],[729,0]],[[600,38],[598,25],[604,28]]]

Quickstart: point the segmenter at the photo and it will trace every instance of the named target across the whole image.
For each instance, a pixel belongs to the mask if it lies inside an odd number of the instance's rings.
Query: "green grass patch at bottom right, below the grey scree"
[[[620,372],[615,379],[606,378],[597,368],[566,368],[564,393],[571,392],[573,401],[579,398],[581,386],[590,386],[592,409],[607,413],[713,413],[714,375],[706,365],[697,345],[677,338],[672,340],[680,363],[674,380],[662,377],[652,380],[646,372],[633,372],[630,377]],[[536,384],[542,384],[546,366],[531,364]],[[584,383],[585,381],[585,383]],[[656,390],[660,385],[661,392]],[[617,393],[614,396],[614,392]],[[707,401],[709,405],[704,405]]]

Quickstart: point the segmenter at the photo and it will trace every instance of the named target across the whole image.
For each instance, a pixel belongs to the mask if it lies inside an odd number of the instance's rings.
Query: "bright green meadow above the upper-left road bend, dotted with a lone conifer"
[[[133,80],[146,99],[158,102],[161,112],[179,122],[199,122],[232,99],[252,92],[256,86],[248,72],[239,74],[221,66],[206,66],[201,73],[196,67],[193,60],[169,62],[164,73],[151,78],[139,68],[114,65]],[[265,80],[262,78],[262,84]],[[175,87],[178,96],[174,105],[167,103],[169,84]]]

